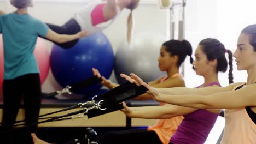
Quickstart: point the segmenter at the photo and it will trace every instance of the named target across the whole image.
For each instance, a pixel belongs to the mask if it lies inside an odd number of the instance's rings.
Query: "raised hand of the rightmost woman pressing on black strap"
[[[158,101],[159,91],[156,88],[150,87],[146,82],[144,82],[139,76],[136,74],[131,74],[131,76],[127,76],[125,74],[120,74],[125,80],[135,83],[137,86],[144,86],[148,89],[147,93],[153,97],[156,101]]]

